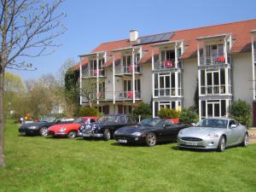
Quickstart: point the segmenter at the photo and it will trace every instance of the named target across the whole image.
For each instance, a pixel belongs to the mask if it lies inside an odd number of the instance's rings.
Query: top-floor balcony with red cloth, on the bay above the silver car
[[[224,55],[202,55],[200,57],[201,66],[221,66],[230,63],[230,55],[225,58]]]

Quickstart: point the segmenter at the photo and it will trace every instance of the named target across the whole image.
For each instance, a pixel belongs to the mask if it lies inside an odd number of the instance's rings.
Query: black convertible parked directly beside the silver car
[[[173,124],[160,118],[143,119],[133,126],[125,126],[114,132],[118,143],[146,143],[149,147],[160,142],[177,141],[178,131],[189,127],[182,123]]]

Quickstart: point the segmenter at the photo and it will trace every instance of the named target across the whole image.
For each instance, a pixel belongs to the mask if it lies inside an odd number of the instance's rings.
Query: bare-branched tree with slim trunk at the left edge
[[[3,84],[6,68],[31,69],[26,56],[47,55],[59,46],[54,38],[66,31],[64,14],[55,14],[62,0],[2,0],[0,9],[0,166],[3,155]]]

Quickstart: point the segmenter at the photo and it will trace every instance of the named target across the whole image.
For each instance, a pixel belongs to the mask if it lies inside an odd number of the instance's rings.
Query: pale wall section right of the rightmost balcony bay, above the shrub
[[[241,99],[253,104],[252,53],[232,55],[233,101]]]

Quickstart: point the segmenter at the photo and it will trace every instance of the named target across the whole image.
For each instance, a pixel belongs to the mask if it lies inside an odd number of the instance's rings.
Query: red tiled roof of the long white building
[[[231,34],[235,43],[232,45],[231,53],[236,54],[240,52],[246,52],[250,50],[251,44],[251,31],[256,28],[256,20],[244,20],[238,22],[232,22],[227,24],[221,24],[216,26],[204,26],[198,28],[192,28],[187,30],[175,31],[174,35],[169,39],[170,41],[183,40],[185,44],[185,51],[182,55],[183,59],[196,56],[197,43],[196,38],[214,36],[219,34]],[[129,39],[112,41],[108,43],[100,44],[93,52],[107,51],[107,55],[113,55],[111,51],[113,49],[122,49],[131,47],[132,44]],[[153,49],[150,44],[141,45],[143,50],[146,50],[146,54],[143,55],[141,63],[151,61],[151,50]],[[154,54],[158,54],[158,49],[154,48]],[[120,60],[120,53],[114,53],[115,61]],[[86,58],[86,57],[85,57]],[[87,60],[83,58],[82,65],[88,63]],[[105,63],[105,67],[111,66],[113,63],[111,57],[109,61]],[[80,62],[74,67],[79,69]]]

